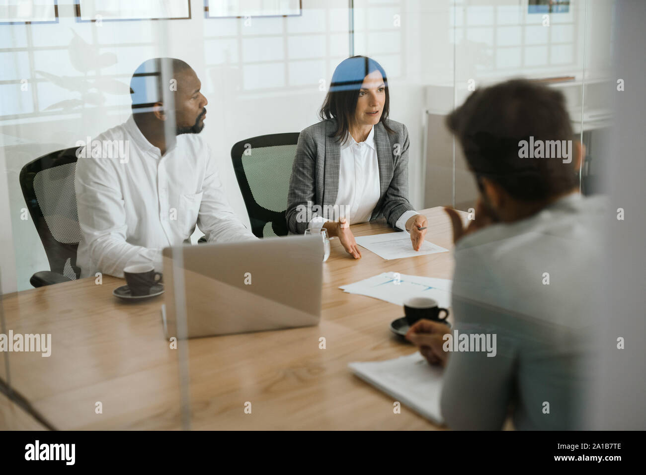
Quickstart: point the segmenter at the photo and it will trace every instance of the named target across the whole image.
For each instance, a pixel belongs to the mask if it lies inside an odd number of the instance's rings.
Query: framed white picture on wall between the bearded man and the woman
[[[204,0],[206,18],[300,16],[301,0]]]

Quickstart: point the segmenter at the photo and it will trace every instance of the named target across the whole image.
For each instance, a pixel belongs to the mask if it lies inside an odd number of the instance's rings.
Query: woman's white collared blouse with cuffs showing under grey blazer
[[[340,216],[313,216],[310,228],[320,228],[326,221],[346,217],[348,223],[370,221],[380,196],[379,163],[375,145],[375,127],[365,141],[357,143],[350,134],[340,145],[339,192],[335,208]],[[324,209],[322,214],[327,210]],[[397,220],[397,227],[406,230],[406,221],[417,211],[409,210]]]

